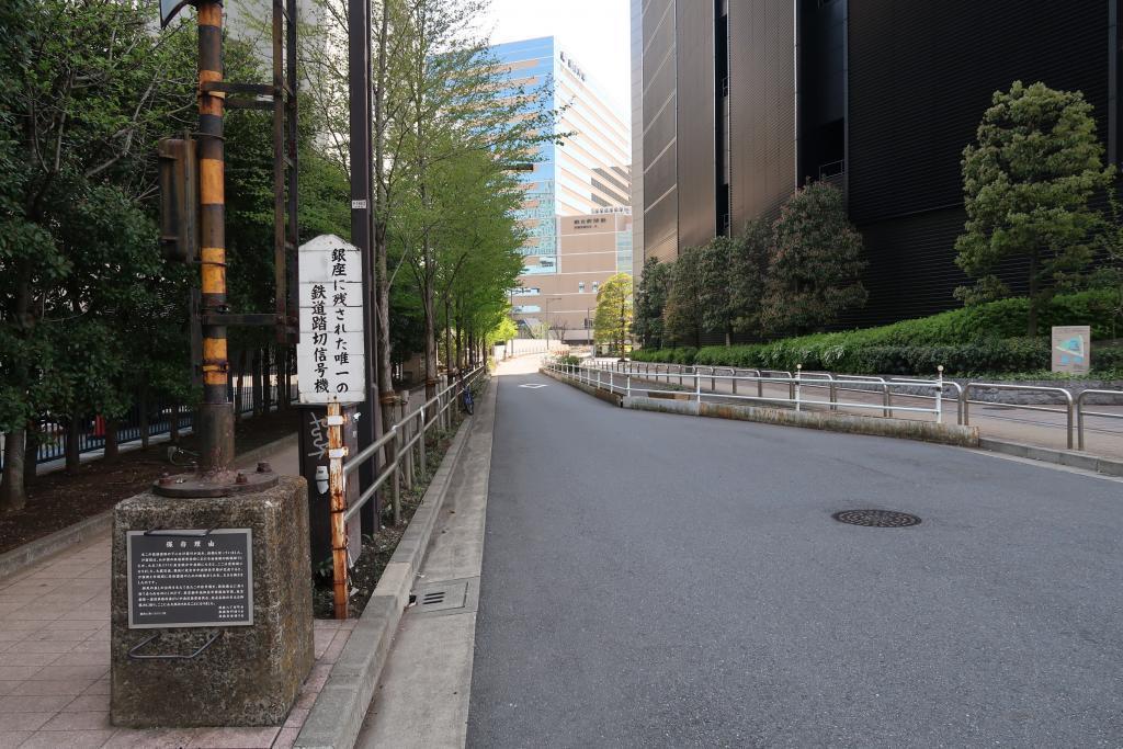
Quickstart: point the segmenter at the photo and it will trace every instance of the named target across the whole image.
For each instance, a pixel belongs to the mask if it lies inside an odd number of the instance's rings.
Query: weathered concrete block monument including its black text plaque
[[[309,566],[302,478],[118,504],[113,724],[282,724],[313,661]]]

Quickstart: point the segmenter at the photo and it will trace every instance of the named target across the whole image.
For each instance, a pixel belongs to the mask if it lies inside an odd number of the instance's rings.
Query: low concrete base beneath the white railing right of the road
[[[697,401],[676,398],[621,396],[599,390],[585,383],[566,380],[556,373],[542,371],[541,374],[553,377],[577,390],[609,401],[614,405],[637,411],[658,411],[661,413],[682,413],[695,417],[716,419],[734,419],[755,421],[784,427],[804,427],[838,431],[847,435],[868,435],[873,437],[896,437],[914,439],[957,447],[978,447],[979,433],[977,427],[960,427],[941,424],[934,421],[910,421],[907,419],[889,419],[884,417],[862,417],[833,411],[791,411],[787,409],[769,409],[756,405],[737,405],[729,403],[699,403]]]

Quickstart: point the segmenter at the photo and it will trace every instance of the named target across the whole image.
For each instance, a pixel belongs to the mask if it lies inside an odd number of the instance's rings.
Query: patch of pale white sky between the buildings
[[[595,79],[631,121],[631,49],[628,0],[492,0],[492,44],[556,36],[567,54]]]

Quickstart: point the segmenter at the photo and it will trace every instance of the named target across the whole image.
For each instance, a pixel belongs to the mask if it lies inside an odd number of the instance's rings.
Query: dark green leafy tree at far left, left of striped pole
[[[194,42],[184,24],[154,34],[147,3],[20,0],[8,11],[0,429],[11,451],[51,411],[73,467],[80,419],[119,415],[131,385],[159,372],[167,351],[134,334],[176,325],[165,302],[180,277],[159,263],[153,221],[154,147],[193,121]],[[26,501],[24,479],[24,464],[6,462],[4,510]]]

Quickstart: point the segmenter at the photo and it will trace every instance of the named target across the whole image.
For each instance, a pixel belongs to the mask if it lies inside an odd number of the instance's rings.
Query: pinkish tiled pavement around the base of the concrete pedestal
[[[0,579],[0,749],[291,747],[355,620],[316,622],[316,665],[283,727],[109,724],[109,535]]]

